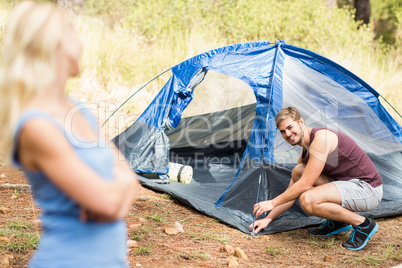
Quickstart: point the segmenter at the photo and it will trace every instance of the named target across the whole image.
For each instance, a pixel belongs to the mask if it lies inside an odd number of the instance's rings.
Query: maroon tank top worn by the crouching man
[[[310,144],[315,133],[321,129],[332,131],[338,136],[338,146],[328,155],[322,173],[334,180],[360,179],[373,187],[380,186],[382,180],[368,155],[347,135],[342,132],[321,127],[313,128],[310,134]],[[303,148],[302,162],[307,164],[309,154]]]

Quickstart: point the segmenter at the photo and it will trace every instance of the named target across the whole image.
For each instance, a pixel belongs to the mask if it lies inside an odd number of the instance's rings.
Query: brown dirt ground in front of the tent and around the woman
[[[21,172],[0,166],[0,184],[26,184]],[[4,187],[3,187],[4,188]],[[29,191],[2,189],[0,194],[0,263],[26,267],[41,232],[40,210]],[[240,232],[185,206],[166,194],[141,188],[126,217],[130,267],[227,267],[231,245],[248,259],[237,267],[393,267],[402,263],[402,216],[378,219],[379,230],[361,251],[342,248],[347,236],[312,238],[306,229],[257,236]],[[179,222],[184,233],[167,234]],[[10,230],[22,230],[21,232]],[[33,246],[32,246],[33,245]],[[5,260],[5,258],[7,260]],[[0,264],[1,266],[1,264]]]

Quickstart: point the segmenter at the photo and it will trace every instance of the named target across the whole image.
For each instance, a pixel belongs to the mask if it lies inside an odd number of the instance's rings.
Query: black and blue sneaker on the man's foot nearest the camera
[[[351,250],[361,250],[366,246],[369,239],[378,230],[378,224],[373,220],[368,220],[370,221],[370,223],[366,227],[353,226],[353,230],[350,234],[349,240],[342,244],[344,248]]]

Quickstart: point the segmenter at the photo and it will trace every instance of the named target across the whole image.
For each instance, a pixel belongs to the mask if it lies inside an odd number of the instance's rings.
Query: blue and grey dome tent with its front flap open
[[[402,214],[402,128],[380,103],[379,93],[348,70],[280,41],[214,49],[171,72],[137,121],[114,138],[142,184],[249,233],[257,192],[259,201],[281,194],[300,155],[301,147],[288,144],[275,126],[278,111],[294,106],[309,127],[329,127],[351,137],[377,167],[383,200],[376,209],[360,214],[373,218]],[[214,74],[246,85],[254,101],[183,117],[197,90]],[[229,84],[220,83],[214,91],[218,95]],[[222,102],[236,94],[226,92]],[[203,98],[202,107],[213,101],[213,96]],[[151,179],[150,174],[166,176],[169,162],[191,166],[191,182],[160,184]],[[322,221],[296,202],[260,233]]]

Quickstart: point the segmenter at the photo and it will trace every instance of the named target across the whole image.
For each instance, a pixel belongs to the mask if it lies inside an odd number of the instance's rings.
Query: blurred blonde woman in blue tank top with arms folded
[[[24,170],[42,210],[43,235],[30,267],[127,267],[122,219],[138,183],[115,147],[100,146],[94,117],[65,95],[81,51],[56,5],[22,2],[11,13],[0,131],[3,157]]]

